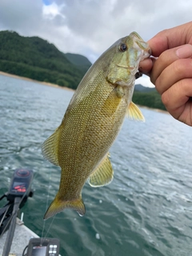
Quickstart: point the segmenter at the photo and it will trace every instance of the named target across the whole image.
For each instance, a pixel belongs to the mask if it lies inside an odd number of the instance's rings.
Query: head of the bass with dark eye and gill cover
[[[106,80],[113,85],[133,86],[139,62],[150,57],[150,46],[136,32],[132,32],[110,46],[109,51],[112,57]]]

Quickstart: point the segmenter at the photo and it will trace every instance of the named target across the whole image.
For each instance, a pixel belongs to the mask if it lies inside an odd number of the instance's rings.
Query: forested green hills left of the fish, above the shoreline
[[[42,38],[0,31],[0,70],[4,72],[76,89],[90,66],[86,57],[63,54]]]

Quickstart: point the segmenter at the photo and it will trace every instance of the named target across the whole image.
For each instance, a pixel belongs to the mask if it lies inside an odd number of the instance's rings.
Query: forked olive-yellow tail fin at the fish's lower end
[[[83,216],[86,213],[86,207],[84,205],[84,202],[82,201],[82,198],[74,199],[71,201],[62,201],[58,199],[56,195],[54,201],[51,202],[50,207],[48,208],[48,210],[46,210],[44,219],[53,217],[54,214],[58,214],[66,208],[76,210],[79,216]]]

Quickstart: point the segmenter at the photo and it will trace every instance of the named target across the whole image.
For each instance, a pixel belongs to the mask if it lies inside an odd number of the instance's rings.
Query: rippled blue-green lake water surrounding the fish
[[[0,196],[13,171],[34,170],[34,197],[24,222],[42,236],[43,215],[58,190],[60,168],[41,145],[62,121],[73,92],[0,76]],[[60,254],[192,255],[192,128],[169,114],[141,108],[146,122],[126,119],[110,149],[114,181],[84,186],[86,215],[65,210],[45,222]]]

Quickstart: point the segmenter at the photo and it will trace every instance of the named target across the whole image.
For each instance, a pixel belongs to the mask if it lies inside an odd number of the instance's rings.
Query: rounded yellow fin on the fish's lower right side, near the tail
[[[111,166],[110,155],[107,154],[105,158],[103,158],[102,162],[98,165],[98,167],[90,174],[89,183],[90,186],[105,186],[110,184],[114,178],[114,170]]]

